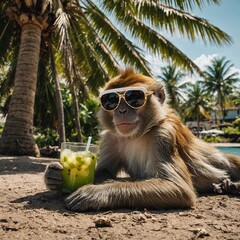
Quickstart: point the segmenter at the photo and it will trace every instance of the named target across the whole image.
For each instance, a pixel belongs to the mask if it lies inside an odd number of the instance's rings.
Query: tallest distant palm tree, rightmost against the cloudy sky
[[[226,60],[225,57],[216,57],[205,71],[206,80],[204,81],[204,87],[216,98],[217,105],[222,112],[223,121],[225,104],[234,90],[234,84],[239,81],[239,74],[237,71],[233,72],[232,67],[233,64]]]

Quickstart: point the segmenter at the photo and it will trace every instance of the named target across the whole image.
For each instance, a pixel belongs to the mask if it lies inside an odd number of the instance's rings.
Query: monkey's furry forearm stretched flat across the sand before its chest
[[[187,183],[181,184],[155,178],[86,185],[66,198],[66,207],[78,212],[119,207],[151,209],[192,207],[196,195]]]

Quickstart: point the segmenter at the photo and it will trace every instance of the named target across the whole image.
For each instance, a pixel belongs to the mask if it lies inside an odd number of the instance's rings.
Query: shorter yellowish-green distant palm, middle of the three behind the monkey
[[[186,118],[197,121],[197,134],[199,134],[200,119],[210,119],[209,111],[212,110],[213,105],[200,81],[191,84],[186,93],[187,101],[183,104],[182,109],[184,109]]]

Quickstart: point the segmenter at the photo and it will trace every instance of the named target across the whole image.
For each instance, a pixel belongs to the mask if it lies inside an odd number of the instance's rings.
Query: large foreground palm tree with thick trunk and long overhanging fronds
[[[174,64],[190,72],[201,72],[156,29],[171,34],[177,32],[192,41],[200,37],[204,42],[228,44],[231,39],[226,33],[188,13],[205,3],[219,2],[2,0],[0,64],[9,60],[9,56],[18,55],[18,61],[15,68],[14,65],[11,68],[15,72],[14,90],[0,139],[0,152],[38,155],[33,140],[33,109],[38,61],[46,54],[44,50],[50,49],[49,41],[55,46],[54,56],[64,61],[69,84],[76,84],[81,94],[86,93],[86,87],[96,93],[98,86],[117,73],[121,62],[151,75],[139,46],[160,54],[163,59],[172,59]],[[138,46],[133,43],[136,39]]]

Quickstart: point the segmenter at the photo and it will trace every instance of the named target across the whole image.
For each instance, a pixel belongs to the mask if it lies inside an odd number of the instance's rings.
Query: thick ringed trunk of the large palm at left
[[[33,114],[40,43],[40,27],[31,23],[23,25],[14,91],[0,139],[2,154],[39,156],[33,138]]]

